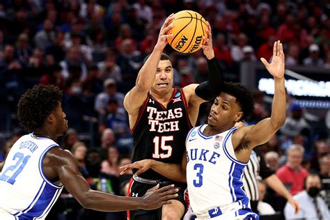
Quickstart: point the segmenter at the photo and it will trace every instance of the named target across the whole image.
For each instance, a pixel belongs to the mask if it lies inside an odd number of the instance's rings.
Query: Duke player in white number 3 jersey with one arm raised
[[[249,198],[242,189],[243,170],[256,146],[269,141],[285,121],[284,53],[278,40],[274,43],[273,60],[261,59],[274,77],[272,116],[256,125],[235,127],[253,110],[253,97],[239,84],[225,83],[214,100],[207,125],[191,129],[187,136],[187,157],[182,164],[164,164],[143,160],[123,166],[148,168],[176,181],[186,181],[191,209],[198,219],[258,219],[251,212]],[[296,212],[297,203],[293,204]]]

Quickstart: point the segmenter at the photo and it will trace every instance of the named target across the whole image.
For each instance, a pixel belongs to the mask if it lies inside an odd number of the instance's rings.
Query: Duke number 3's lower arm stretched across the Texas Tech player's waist
[[[176,182],[187,182],[186,178],[186,167],[187,167],[187,157],[184,153],[181,164],[166,164],[163,162],[159,162],[153,159],[143,159],[138,162],[134,162],[133,164],[127,164],[125,166],[121,166],[119,168],[120,175],[123,175],[130,168],[139,169],[134,173],[134,175],[140,175],[148,171],[148,169],[152,168],[152,170],[157,173],[164,175],[164,177],[176,181]]]

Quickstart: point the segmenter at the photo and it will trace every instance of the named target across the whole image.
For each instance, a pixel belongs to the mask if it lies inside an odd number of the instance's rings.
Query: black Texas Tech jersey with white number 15
[[[167,107],[148,93],[132,129],[135,147],[133,162],[155,159],[169,164],[181,164],[185,151],[184,141],[190,128],[187,101],[182,89],[173,90]],[[142,173],[141,178],[167,180],[151,169]]]

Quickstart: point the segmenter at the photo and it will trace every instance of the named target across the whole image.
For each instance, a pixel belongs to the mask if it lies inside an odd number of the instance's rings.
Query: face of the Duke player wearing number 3
[[[221,93],[212,104],[207,123],[210,127],[219,129],[233,127],[242,118],[243,113],[236,98],[227,93]]]

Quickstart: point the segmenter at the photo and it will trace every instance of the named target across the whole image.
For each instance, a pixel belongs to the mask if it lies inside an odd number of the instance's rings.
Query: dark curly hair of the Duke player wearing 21
[[[19,125],[32,132],[42,127],[49,113],[62,101],[63,93],[56,86],[38,84],[20,97],[17,109]]]

